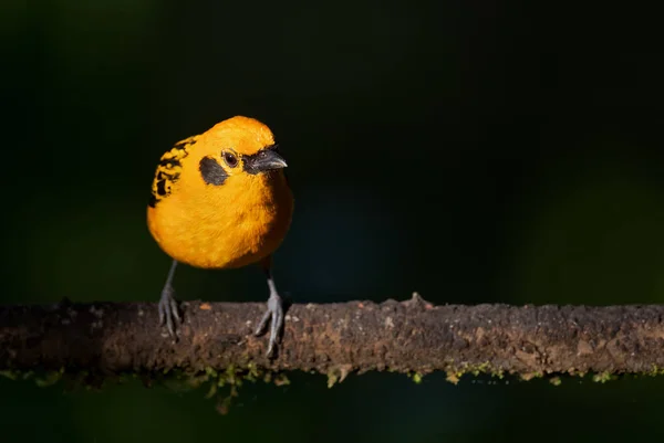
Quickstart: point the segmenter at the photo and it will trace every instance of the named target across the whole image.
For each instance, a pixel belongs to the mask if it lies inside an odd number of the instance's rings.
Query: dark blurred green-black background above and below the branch
[[[636,4],[636,3],[634,3]],[[241,114],[295,193],[294,302],[664,302],[660,15],[500,1],[4,0],[0,303],[157,300],[160,155]],[[264,300],[258,268],[180,298]],[[322,376],[205,391],[0,380],[1,442],[656,441],[662,378]]]

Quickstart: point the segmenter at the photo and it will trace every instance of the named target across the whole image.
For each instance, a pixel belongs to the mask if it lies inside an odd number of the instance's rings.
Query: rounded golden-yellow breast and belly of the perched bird
[[[173,259],[204,268],[240,267],[279,247],[293,211],[282,171],[231,177],[208,190],[183,180],[147,210],[149,231]]]

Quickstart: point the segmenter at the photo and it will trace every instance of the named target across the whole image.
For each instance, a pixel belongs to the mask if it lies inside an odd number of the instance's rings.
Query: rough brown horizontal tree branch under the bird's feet
[[[181,304],[178,341],[151,303],[0,307],[0,369],[163,373],[225,368],[318,371],[661,373],[664,306],[293,305],[280,352],[251,330],[263,304]]]

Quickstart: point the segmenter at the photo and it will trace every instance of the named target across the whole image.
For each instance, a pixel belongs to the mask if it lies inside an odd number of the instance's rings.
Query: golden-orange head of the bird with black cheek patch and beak
[[[198,171],[207,184],[224,184],[229,177],[249,178],[287,167],[272,131],[253,118],[237,116],[218,123],[200,136],[197,145]]]

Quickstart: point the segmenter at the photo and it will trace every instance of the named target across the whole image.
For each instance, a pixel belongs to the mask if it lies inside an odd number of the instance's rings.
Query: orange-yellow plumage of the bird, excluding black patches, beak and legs
[[[193,143],[187,145],[188,140]],[[159,175],[164,168],[174,169],[164,158],[167,152],[157,168],[153,194],[158,187],[168,192],[147,208],[149,231],[164,252],[204,268],[246,266],[272,254],[286,236],[293,211],[283,171],[250,175],[241,164],[229,168],[221,156],[222,150],[234,150],[241,161],[241,155],[273,145],[270,129],[238,116],[180,144],[186,155],[175,165],[178,175],[175,179]],[[199,162],[204,157],[212,157],[227,172],[222,184],[203,179]]]

